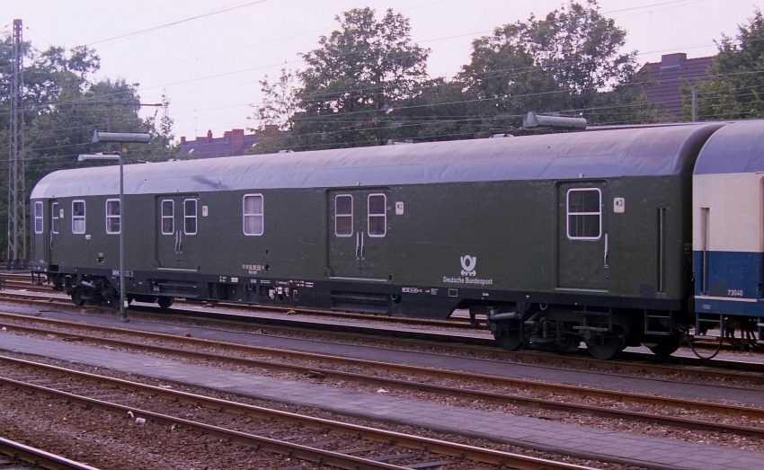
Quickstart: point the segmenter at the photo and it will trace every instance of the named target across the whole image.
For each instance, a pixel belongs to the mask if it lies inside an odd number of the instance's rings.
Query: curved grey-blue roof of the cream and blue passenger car
[[[697,155],[695,174],[764,172],[764,120],[719,129]]]

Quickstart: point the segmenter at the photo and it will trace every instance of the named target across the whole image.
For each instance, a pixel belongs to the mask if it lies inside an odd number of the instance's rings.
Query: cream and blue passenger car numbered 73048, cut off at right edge
[[[693,174],[697,330],[734,319],[764,328],[764,122],[736,122],[711,136]]]

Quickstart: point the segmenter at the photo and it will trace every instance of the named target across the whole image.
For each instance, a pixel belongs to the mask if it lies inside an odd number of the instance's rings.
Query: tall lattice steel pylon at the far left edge
[[[24,195],[24,68],[22,21],[13,20],[13,80],[8,166],[8,269],[26,268],[26,200]]]

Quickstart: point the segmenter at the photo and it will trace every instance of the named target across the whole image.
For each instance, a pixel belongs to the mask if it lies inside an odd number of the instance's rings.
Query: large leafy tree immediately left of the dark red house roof
[[[563,111],[590,122],[651,120],[653,107],[636,85],[636,54],[619,52],[625,42],[626,31],[595,0],[571,1],[475,40],[458,78],[489,118],[518,122],[528,111]]]

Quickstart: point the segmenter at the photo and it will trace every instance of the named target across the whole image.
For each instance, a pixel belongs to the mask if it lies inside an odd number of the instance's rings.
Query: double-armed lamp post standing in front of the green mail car
[[[120,142],[120,149],[123,143],[139,142],[147,144],[151,140],[149,134],[140,134],[136,132],[101,132],[93,131],[93,142]],[[128,297],[125,289],[125,176],[122,162],[121,150],[116,154],[90,154],[79,155],[77,161],[86,162],[89,160],[119,160],[120,162],[120,322],[129,322],[128,318]]]

